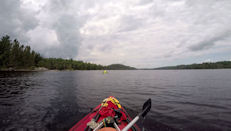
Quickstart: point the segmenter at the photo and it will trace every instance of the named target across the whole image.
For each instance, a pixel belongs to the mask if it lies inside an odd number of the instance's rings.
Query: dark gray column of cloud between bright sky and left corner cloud
[[[79,3],[81,6],[81,2]],[[45,26],[56,35],[56,42],[40,49],[46,57],[75,58],[81,45],[79,29],[85,21],[80,18],[79,8],[73,8],[75,3],[71,0],[50,0],[41,10],[41,14],[48,17],[40,26]],[[44,34],[46,35],[46,34]],[[46,42],[46,41],[44,41]]]

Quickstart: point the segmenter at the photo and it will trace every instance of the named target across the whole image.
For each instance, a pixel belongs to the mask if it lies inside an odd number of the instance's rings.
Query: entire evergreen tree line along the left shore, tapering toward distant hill
[[[44,58],[31,50],[30,46],[20,44],[18,40],[10,40],[8,35],[0,40],[0,69],[34,69],[45,67],[57,70],[101,70],[105,66],[75,61],[72,59]]]

